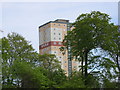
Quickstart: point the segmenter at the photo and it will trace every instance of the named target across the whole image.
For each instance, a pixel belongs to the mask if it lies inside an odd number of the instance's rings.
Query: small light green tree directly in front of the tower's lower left
[[[53,54],[39,55],[37,64],[38,66],[43,67],[47,70],[45,74],[50,80],[53,80],[54,78],[54,71],[61,69],[60,62],[56,59],[55,55]]]

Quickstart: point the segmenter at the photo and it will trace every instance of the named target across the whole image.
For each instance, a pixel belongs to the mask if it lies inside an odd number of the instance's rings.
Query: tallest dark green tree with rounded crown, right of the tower
[[[68,32],[63,41],[66,48],[70,44],[73,57],[80,60],[85,78],[88,77],[90,52],[96,48],[107,50],[109,46],[116,47],[113,36],[118,35],[118,31],[110,19],[109,15],[99,11],[81,14],[72,24],[74,29]]]

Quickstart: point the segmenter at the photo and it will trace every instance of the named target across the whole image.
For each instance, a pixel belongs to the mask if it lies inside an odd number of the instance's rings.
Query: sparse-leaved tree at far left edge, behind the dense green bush
[[[16,60],[34,63],[37,59],[36,52],[21,35],[17,33],[8,34],[2,38],[2,79],[3,87],[14,87],[14,77],[12,73],[13,62]],[[17,75],[16,75],[17,76]]]

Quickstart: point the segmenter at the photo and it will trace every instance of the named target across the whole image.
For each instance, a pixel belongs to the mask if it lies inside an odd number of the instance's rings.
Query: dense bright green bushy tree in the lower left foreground
[[[42,67],[33,67],[30,63],[15,61],[13,65],[15,75],[21,79],[22,88],[50,88],[54,82],[43,75]]]

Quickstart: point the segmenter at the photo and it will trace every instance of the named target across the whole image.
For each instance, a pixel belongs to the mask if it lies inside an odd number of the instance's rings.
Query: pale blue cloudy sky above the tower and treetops
[[[0,28],[4,36],[10,32],[21,34],[38,51],[40,25],[56,19],[74,22],[80,14],[91,11],[107,13],[111,22],[118,24],[117,2],[4,2],[0,4]]]

